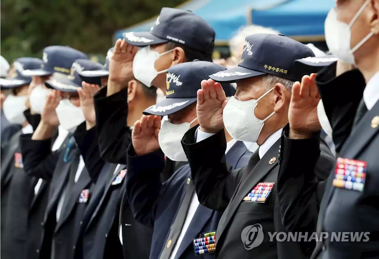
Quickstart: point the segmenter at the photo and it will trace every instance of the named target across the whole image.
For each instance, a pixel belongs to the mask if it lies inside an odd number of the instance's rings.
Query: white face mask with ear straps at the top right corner
[[[370,37],[373,32],[370,32],[363,40],[361,40],[355,47],[351,48],[351,26],[357,20],[359,15],[369,4],[366,1],[362,7],[358,10],[356,15],[349,24],[340,22],[337,20],[337,12],[335,8],[330,9],[329,14],[325,19],[325,40],[330,52],[334,54],[338,59],[341,59],[345,63],[355,64],[354,52],[360,48]]]

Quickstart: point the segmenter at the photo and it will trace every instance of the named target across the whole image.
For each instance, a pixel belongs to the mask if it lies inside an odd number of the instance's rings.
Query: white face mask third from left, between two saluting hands
[[[69,99],[61,100],[55,111],[59,124],[71,133],[86,120],[81,107],[73,105]]]

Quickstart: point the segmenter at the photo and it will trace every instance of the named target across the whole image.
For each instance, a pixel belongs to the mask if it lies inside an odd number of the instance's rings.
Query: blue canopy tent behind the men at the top
[[[192,0],[177,8],[203,17],[216,32],[216,44],[223,45],[241,26],[251,24],[271,27],[290,37],[323,37],[324,20],[333,5],[331,0]],[[156,19],[117,31],[115,39],[121,39],[124,32],[149,31]]]

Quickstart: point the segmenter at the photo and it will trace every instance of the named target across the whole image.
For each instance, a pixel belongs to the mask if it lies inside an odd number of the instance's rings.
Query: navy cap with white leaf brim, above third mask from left
[[[45,82],[45,85],[48,88],[57,89],[66,93],[75,93],[78,91],[78,88],[81,87],[81,80],[79,76],[79,71],[83,70],[99,70],[102,69],[103,65],[100,63],[92,62],[88,59],[77,59],[74,63],[72,63],[70,69],[70,75],[65,77],[61,77],[59,79],[51,79]]]

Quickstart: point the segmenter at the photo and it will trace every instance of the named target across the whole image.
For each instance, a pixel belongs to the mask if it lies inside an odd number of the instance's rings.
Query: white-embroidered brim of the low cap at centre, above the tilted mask
[[[157,115],[165,116],[176,113],[181,109],[186,108],[188,105],[196,102],[197,98],[166,98],[162,102],[157,103],[156,105],[150,106],[144,110],[144,115]]]

